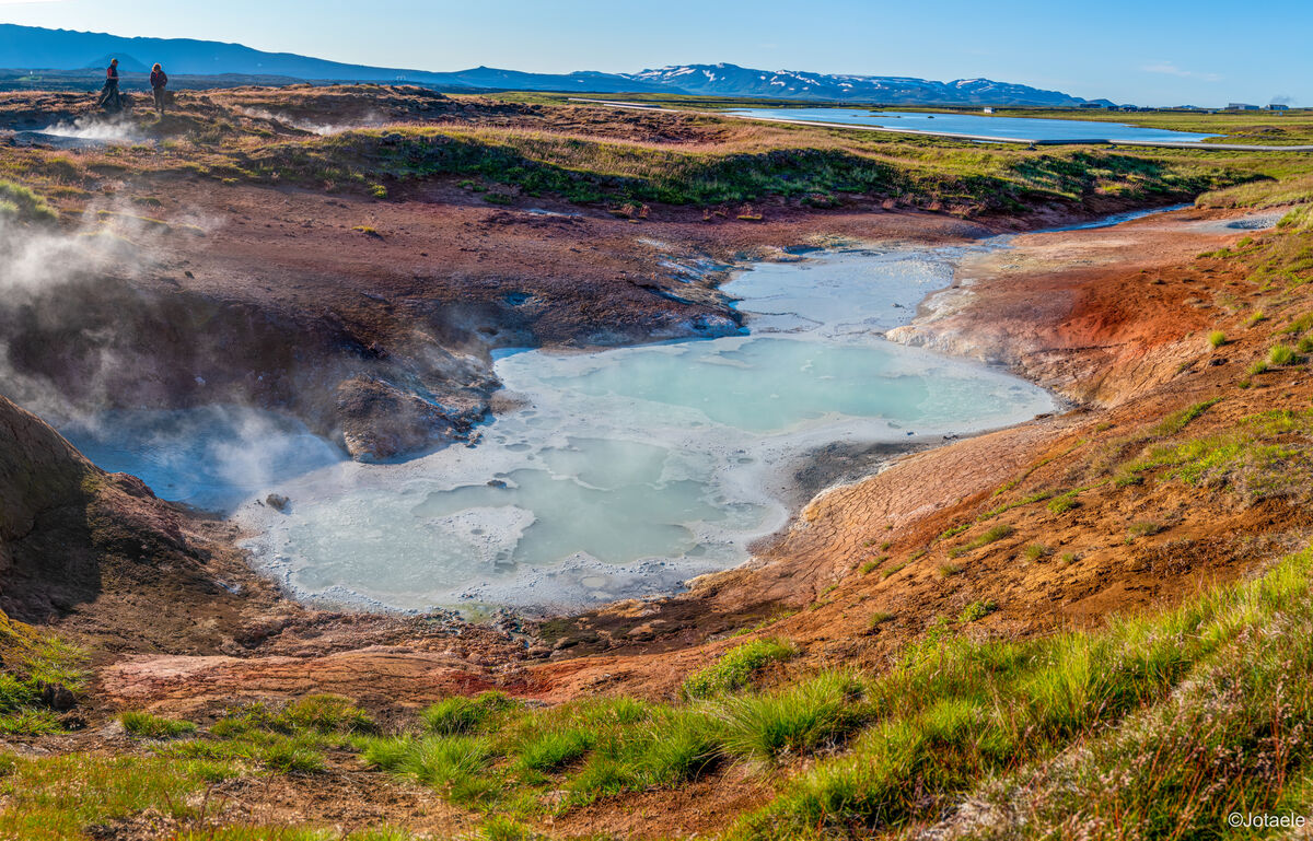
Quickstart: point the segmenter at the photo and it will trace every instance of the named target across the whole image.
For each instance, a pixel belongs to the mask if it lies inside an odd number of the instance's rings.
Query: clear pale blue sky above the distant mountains
[[[1313,0],[0,0],[0,21],[419,70],[733,62],[987,76],[1141,105],[1313,105]]]

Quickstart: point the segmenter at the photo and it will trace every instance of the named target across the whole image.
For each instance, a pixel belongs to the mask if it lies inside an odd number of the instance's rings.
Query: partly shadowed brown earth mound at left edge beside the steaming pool
[[[197,526],[0,396],[4,614],[68,627],[114,651],[213,649],[243,609],[272,594]]]

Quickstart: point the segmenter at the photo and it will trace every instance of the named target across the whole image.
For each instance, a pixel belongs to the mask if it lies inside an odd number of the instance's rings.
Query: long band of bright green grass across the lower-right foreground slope
[[[364,756],[453,803],[511,817],[683,786],[725,761],[748,761],[750,774],[781,768],[769,803],[730,831],[741,841],[898,833],[1027,774],[1044,786],[1010,789],[1010,798],[1037,798],[1039,813],[1053,819],[1116,813],[1123,831],[1142,837],[1159,820],[1212,825],[1237,798],[1271,806],[1300,796],[1313,771],[1299,749],[1313,728],[1313,550],[1258,580],[1161,614],[1113,617],[1099,631],[1020,640],[955,632],[994,609],[989,600],[968,605],[957,625],[940,622],[878,674],[823,672],[675,705],[513,706],[478,732],[369,737]],[[1237,686],[1236,674],[1255,684]],[[1178,727],[1178,715],[1191,727]],[[1170,762],[1159,766],[1159,756]],[[1144,811],[1152,799],[1123,785],[1127,773],[1173,808]],[[1067,783],[1079,798],[1067,798]],[[1215,783],[1226,792],[1218,802],[1180,808],[1187,792]],[[1138,806],[1119,811],[1128,803]],[[1012,813],[1001,810],[1002,819]]]

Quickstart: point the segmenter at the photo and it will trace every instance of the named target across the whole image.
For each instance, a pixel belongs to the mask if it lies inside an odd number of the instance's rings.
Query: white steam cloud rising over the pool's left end
[[[163,226],[106,207],[85,218],[63,232],[0,216],[0,392],[100,467],[206,509],[230,510],[343,458],[299,421],[231,403],[228,394],[173,409],[183,395],[151,380],[161,365],[184,362],[158,358],[137,321],[154,300],[143,287],[167,270],[152,256]],[[177,374],[205,395],[204,377]]]

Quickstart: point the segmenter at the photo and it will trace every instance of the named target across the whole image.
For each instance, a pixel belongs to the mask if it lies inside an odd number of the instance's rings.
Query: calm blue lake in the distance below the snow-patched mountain
[[[1197,142],[1215,136],[1191,131],[1145,129],[1092,119],[1043,119],[985,114],[872,112],[847,108],[742,108],[729,113],[759,119],[802,119],[806,122],[880,126],[898,131],[934,131],[936,134],[960,134],[972,138],[1007,138],[1012,140]]]

